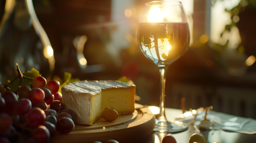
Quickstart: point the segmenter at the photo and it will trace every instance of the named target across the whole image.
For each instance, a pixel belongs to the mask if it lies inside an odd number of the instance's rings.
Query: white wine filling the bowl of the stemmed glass
[[[158,66],[170,65],[188,49],[188,23],[140,23],[138,41],[149,60]]]

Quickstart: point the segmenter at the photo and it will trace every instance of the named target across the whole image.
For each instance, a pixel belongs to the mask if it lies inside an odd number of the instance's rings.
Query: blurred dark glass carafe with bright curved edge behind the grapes
[[[36,17],[32,0],[6,0],[0,23],[0,81],[16,76],[20,70],[40,70],[48,80],[55,67],[53,49]]]

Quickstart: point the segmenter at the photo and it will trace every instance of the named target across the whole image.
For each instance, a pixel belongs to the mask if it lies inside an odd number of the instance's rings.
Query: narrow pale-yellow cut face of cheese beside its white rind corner
[[[93,124],[101,116],[101,93],[92,95],[90,123]]]

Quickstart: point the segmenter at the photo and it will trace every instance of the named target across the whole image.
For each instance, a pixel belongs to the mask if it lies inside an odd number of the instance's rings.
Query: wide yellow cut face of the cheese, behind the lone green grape
[[[134,112],[135,86],[101,90],[101,109],[114,109],[118,114]]]

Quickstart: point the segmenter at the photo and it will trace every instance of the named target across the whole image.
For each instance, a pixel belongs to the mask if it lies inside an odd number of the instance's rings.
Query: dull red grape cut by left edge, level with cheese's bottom
[[[0,113],[0,132],[8,130],[12,126],[12,117],[6,113]]]

